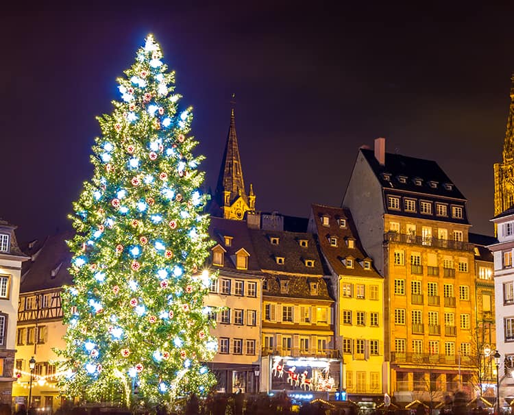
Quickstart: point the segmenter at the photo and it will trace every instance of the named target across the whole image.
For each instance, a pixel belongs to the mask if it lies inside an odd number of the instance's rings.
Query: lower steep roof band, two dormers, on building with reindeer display
[[[280,281],[284,279],[289,281],[289,290],[287,293],[280,292]],[[285,298],[302,298],[302,299],[317,299],[317,300],[330,300],[328,287],[325,279],[321,277],[294,277],[285,275],[268,275],[266,277],[268,289],[262,291],[264,296],[285,297]],[[310,283],[318,283],[317,295],[310,294]]]

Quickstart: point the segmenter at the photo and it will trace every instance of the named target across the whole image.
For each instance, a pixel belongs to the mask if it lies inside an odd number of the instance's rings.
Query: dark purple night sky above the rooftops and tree
[[[115,79],[149,33],[176,71],[182,105],[193,105],[208,186],[235,92],[258,210],[307,216],[310,203],[339,205],[358,147],[384,136],[387,151],[437,160],[468,199],[472,231],[492,234],[514,5],[105,3],[21,3],[0,16],[0,217],[19,225],[19,240],[70,227],[71,203],[93,174],[95,116],[111,112]]]

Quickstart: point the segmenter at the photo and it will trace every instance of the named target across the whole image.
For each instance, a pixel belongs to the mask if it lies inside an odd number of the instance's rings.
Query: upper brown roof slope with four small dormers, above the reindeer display
[[[262,271],[324,275],[323,264],[321,264],[313,234],[260,229],[249,229],[249,233],[252,236],[252,242]],[[279,238],[278,244],[271,244],[272,237]],[[300,240],[306,240],[307,247],[301,247]],[[283,257],[284,264],[278,264],[277,257]],[[314,260],[314,266],[306,266],[305,260]]]

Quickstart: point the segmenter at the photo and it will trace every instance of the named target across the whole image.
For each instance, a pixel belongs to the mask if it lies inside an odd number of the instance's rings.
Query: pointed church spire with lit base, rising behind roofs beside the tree
[[[227,143],[223,153],[223,161],[219,170],[214,202],[211,213],[225,219],[243,220],[246,212],[255,211],[255,194],[250,184],[249,194],[245,191],[243,168],[236,136],[236,118],[234,108],[230,115]],[[222,212],[220,212],[220,210]]]

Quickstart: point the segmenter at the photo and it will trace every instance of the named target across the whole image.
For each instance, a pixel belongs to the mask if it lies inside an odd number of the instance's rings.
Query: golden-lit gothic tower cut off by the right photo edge
[[[514,75],[511,105],[503,143],[503,162],[494,164],[494,216],[514,205]]]

